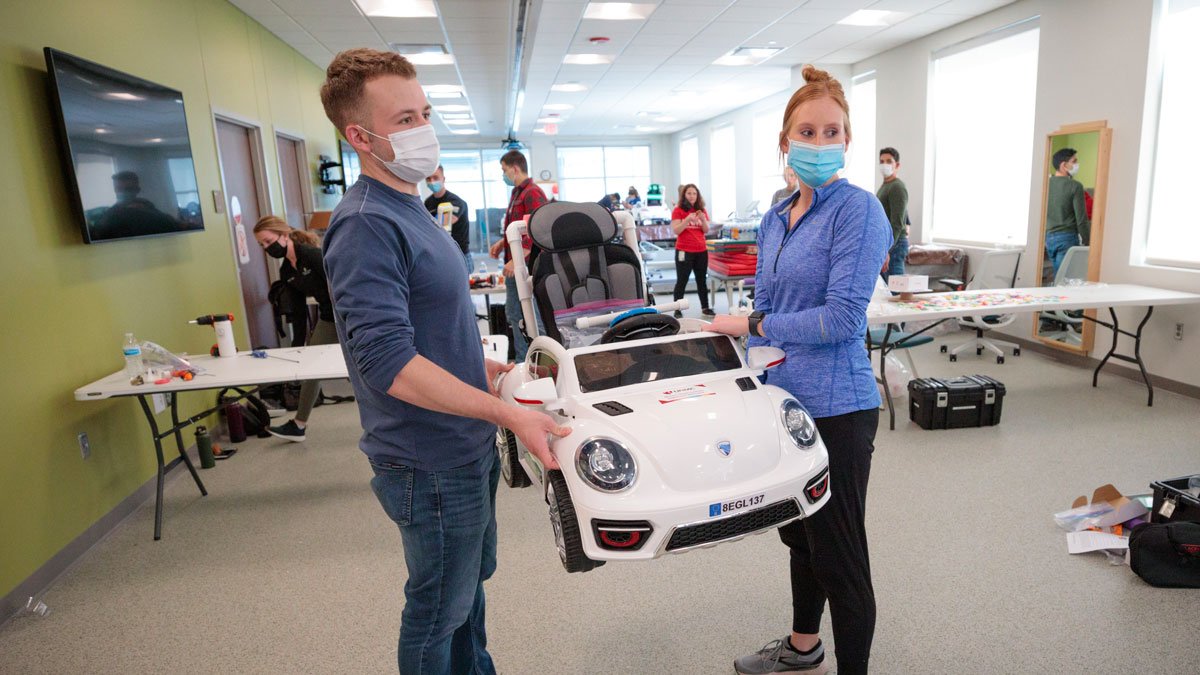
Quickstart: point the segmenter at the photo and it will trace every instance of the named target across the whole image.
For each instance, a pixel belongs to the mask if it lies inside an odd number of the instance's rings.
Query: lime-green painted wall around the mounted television
[[[320,68],[224,0],[7,2],[0,20],[0,596],[154,476],[154,446],[133,399],[77,402],[73,390],[121,366],[126,331],[204,352],[187,319],[240,312],[212,112],[263,127],[275,213],[275,130],[306,139],[308,163],[337,156],[317,91]],[[43,47],[184,92],[205,231],[84,245],[62,187]],[[318,209],[332,208],[313,190]],[[238,344],[245,348],[245,328]],[[180,398],[198,410],[212,394]],[[91,459],[76,435],[86,431]],[[169,532],[170,524],[168,521]],[[145,532],[150,539],[150,531]]]

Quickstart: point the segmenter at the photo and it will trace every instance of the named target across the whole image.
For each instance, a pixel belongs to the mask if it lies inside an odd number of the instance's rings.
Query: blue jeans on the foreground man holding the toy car
[[[496,453],[446,471],[378,461],[371,468],[371,489],[400,526],[408,567],[400,671],[494,675],[484,581],[496,572]]]

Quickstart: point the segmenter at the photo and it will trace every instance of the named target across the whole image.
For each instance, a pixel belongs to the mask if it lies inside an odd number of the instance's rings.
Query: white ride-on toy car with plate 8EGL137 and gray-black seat
[[[551,438],[562,470],[546,471],[498,429],[505,483],[541,488],[568,572],[731,542],[815,513],[829,498],[824,444],[796,399],[758,381],[784,352],[744,352],[706,322],[668,313],[685,301],[641,307],[632,220],[614,244],[613,215],[626,214],[554,202],[528,221],[542,252],[532,275],[517,256],[514,282],[533,341],[497,392],[571,432]],[[524,222],[509,226],[514,251],[526,232]]]

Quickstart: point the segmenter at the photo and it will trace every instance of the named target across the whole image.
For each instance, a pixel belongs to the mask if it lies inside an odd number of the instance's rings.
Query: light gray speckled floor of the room
[[[1008,396],[996,428],[881,423],[874,670],[1194,673],[1196,591],[1067,555],[1051,514],[1103,483],[1133,494],[1200,471],[1200,402],[1158,392],[1147,408],[1140,384],[1104,376],[1093,389],[1088,371],[1030,352],[1006,365],[949,364],[935,346],[916,358],[923,376],[988,374]],[[395,671],[400,537],[356,431],[353,405],[319,407],[306,443],[253,440],[203,472],[208,497],[176,472],[163,539],[146,504],[46,595],[49,616],[0,628],[0,671]],[[545,504],[503,485],[498,502],[486,589],[502,673],[730,673],[787,631],[774,533],[569,575]]]

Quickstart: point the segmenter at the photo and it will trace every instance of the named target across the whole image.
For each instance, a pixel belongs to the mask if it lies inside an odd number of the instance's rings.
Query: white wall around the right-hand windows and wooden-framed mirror
[[[856,73],[876,71],[876,139],[878,145],[895,145],[901,153],[902,175],[912,196],[913,239],[929,238],[924,213],[929,207],[925,107],[930,54],[1040,14],[1028,245],[1018,283],[1028,285],[1037,277],[1045,136],[1066,124],[1108,120],[1112,129],[1112,154],[1100,281],[1200,292],[1198,271],[1151,268],[1130,261],[1130,243],[1135,232],[1141,235],[1135,227],[1140,217],[1135,185],[1146,171],[1138,162],[1153,12],[1152,0],[1025,0],[856,64]],[[979,130],[979,166],[986,162],[988,145],[1003,142],[1004,130]],[[986,208],[988,199],[998,198],[1002,196],[988,193],[982,180],[980,208]],[[1135,328],[1142,313],[1141,309],[1120,311],[1122,327]],[[1186,324],[1183,341],[1174,339],[1176,322]],[[1008,329],[1025,338],[1032,330],[1030,316],[1022,316]],[[1144,335],[1142,356],[1151,372],[1200,386],[1200,359],[1195,358],[1200,347],[1200,306],[1156,309]],[[1098,328],[1092,356],[1103,356],[1110,344],[1111,333]]]

